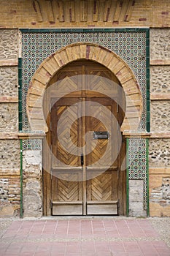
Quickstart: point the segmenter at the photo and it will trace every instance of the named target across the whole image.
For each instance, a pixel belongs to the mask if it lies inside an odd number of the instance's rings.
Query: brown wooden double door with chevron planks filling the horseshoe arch
[[[69,64],[51,80],[44,184],[52,215],[125,214],[119,88],[108,69],[90,61]]]

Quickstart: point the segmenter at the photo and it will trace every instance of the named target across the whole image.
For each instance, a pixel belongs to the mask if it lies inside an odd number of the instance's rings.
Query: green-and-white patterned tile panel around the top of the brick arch
[[[81,31],[81,30],[80,30]],[[23,130],[29,130],[26,116],[26,95],[28,86],[34,72],[47,56],[56,50],[75,42],[94,42],[117,53],[134,71],[142,91],[144,110],[139,130],[146,129],[146,31],[112,31],[112,29],[87,29],[87,31],[74,32],[74,29],[63,31],[23,31]]]

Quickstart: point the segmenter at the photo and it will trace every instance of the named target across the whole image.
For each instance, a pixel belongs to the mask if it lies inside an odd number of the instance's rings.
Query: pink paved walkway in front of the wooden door
[[[1,236],[0,255],[170,256],[147,219],[18,219]]]

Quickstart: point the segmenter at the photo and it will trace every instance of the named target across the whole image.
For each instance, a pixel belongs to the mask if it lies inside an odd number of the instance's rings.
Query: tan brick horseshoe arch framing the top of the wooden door
[[[136,131],[142,116],[142,94],[134,72],[112,50],[89,42],[79,42],[61,48],[45,59],[36,70],[28,89],[26,104],[31,129],[47,132],[43,114],[43,94],[47,84],[59,69],[78,59],[96,61],[113,72],[125,92],[126,110],[121,131]]]

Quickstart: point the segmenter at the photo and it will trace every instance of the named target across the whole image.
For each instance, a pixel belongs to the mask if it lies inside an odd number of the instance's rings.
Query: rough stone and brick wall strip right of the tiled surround
[[[150,30],[150,216],[169,216],[170,29]]]

